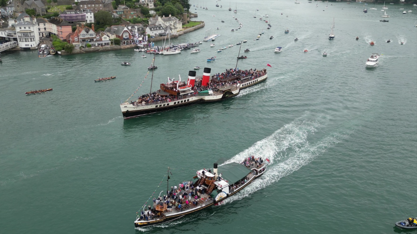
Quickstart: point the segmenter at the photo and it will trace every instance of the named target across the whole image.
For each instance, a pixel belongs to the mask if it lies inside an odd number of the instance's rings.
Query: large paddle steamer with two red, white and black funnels
[[[178,80],[162,83],[160,85],[161,89],[157,91],[157,94],[161,97],[169,97],[166,100],[158,102],[136,100],[131,103],[121,103],[120,107],[123,118],[128,119],[138,117],[178,107],[185,107],[199,102],[216,102],[224,100],[238,95],[240,90],[256,85],[266,80],[268,77],[266,69],[252,70],[246,76],[234,75],[220,79],[211,77],[210,73],[211,68],[205,67],[203,75],[199,77],[196,77],[196,71],[189,71],[188,80],[186,82]],[[234,84],[221,85],[222,83]],[[217,88],[216,90],[204,90],[198,92],[193,90],[196,84],[201,87],[207,87],[209,84],[214,84]],[[191,88],[183,88],[186,86]]]

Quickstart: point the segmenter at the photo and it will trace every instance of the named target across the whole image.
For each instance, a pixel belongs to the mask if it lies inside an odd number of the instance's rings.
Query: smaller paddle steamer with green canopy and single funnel
[[[196,180],[193,183],[193,187],[195,187],[195,189],[198,188],[197,192],[200,195],[197,199],[192,198],[192,203],[190,204],[182,202],[183,204],[181,205],[181,208],[170,208],[171,204],[180,203],[180,201],[178,200],[179,198],[172,199],[172,196],[169,196],[168,193],[170,190],[167,184],[166,193],[168,195],[168,204],[161,200],[160,204],[154,204],[152,207],[146,207],[146,204],[143,205],[142,210],[136,214],[137,219],[134,221],[135,227],[147,227],[170,222],[180,219],[181,217],[193,212],[206,209],[212,205],[219,204],[219,202],[231,197],[241,191],[244,187],[254,182],[255,179],[258,179],[262,174],[264,174],[265,170],[266,166],[263,161],[258,162],[258,164],[251,162],[248,167],[236,162],[231,162],[221,166],[218,166],[217,163],[215,163],[213,172],[211,172],[211,169],[200,169],[196,172],[196,176],[193,177],[193,179]],[[169,174],[170,172],[168,168],[167,182],[170,178]],[[185,192],[186,190],[181,189],[181,192],[176,195],[180,197],[180,195],[184,195]],[[163,193],[164,191],[160,194]],[[149,208],[151,208],[151,213],[153,214],[151,216],[146,214],[146,212],[149,214],[149,211],[147,210]]]

